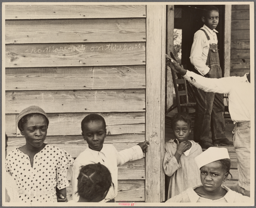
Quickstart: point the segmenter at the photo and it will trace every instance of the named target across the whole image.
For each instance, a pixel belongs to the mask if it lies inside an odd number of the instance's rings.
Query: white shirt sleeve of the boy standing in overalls
[[[194,41],[193,41],[191,53],[190,53],[190,62],[195,66],[196,70],[200,74],[205,75],[210,71],[210,68],[206,66],[206,62],[202,60],[203,47],[204,47],[203,37],[200,34],[195,33]]]

